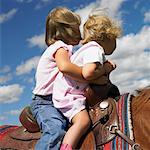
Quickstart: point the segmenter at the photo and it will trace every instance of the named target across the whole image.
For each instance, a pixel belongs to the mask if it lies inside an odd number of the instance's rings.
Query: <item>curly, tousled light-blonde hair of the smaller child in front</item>
[[[93,15],[83,26],[83,41],[103,41],[105,38],[113,39],[121,35],[121,28],[105,15]]]

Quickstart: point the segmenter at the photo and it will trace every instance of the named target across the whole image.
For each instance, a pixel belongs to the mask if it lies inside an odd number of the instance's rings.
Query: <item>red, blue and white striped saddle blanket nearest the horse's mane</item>
[[[117,102],[120,130],[133,140],[133,130],[130,111],[130,94],[124,94]],[[121,137],[116,136],[112,141],[104,145],[103,150],[131,150],[131,146]]]

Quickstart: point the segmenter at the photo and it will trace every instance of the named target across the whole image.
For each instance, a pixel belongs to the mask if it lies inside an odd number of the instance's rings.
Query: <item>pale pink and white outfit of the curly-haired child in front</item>
[[[71,62],[78,66],[84,66],[87,63],[94,62],[103,64],[104,61],[104,51],[102,47],[94,41],[83,45],[71,56]],[[54,81],[54,106],[59,108],[62,113],[71,120],[75,114],[85,108],[86,98],[84,91],[87,86],[87,83],[71,80],[59,72]]]

